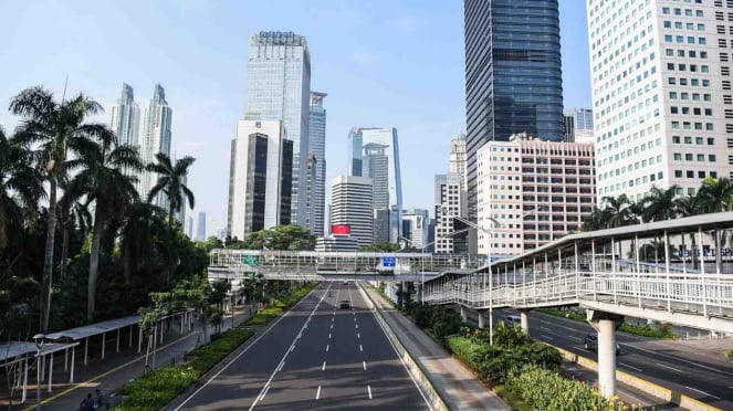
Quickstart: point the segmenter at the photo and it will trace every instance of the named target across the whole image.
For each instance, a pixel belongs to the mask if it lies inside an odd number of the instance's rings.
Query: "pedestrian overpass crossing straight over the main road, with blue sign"
[[[363,253],[218,249],[210,254],[209,281],[234,287],[248,278],[289,281],[422,282],[452,270],[473,271],[486,259],[465,254]]]

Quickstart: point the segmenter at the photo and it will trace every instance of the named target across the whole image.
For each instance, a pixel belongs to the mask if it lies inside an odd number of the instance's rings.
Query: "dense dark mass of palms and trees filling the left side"
[[[84,94],[35,86],[9,108],[19,124],[0,127],[1,338],[127,315],[205,272],[206,251],[174,219],[195,205],[184,183],[192,157],[144,164],[92,120],[103,107]],[[150,192],[138,192],[143,171],[158,176]],[[150,203],[159,193],[167,210]]]

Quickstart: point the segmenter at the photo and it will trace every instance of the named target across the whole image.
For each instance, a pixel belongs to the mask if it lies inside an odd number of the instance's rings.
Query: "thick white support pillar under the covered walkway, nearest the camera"
[[[616,329],[624,317],[593,309],[586,315],[598,331],[598,389],[604,398],[611,398],[616,394]]]

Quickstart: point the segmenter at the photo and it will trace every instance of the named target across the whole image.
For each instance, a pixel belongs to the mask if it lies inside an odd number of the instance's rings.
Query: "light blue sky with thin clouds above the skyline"
[[[561,0],[566,108],[590,106],[585,19],[585,1]],[[460,0],[3,0],[0,21],[0,125],[15,126],[8,102],[18,92],[41,84],[61,96],[66,75],[70,93],[105,107],[122,82],[140,105],[163,84],[171,151],[197,158],[189,186],[209,234],[227,221],[229,144],[254,32],[307,36],[311,87],[328,93],[327,186],[345,172],[352,126],[394,126],[404,203],[432,209],[433,176],[448,169],[450,139],[465,128]]]

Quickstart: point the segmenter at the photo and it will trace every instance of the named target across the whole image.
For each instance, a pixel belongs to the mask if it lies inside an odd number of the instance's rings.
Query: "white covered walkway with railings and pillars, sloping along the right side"
[[[733,264],[721,246],[733,212],[582,232],[471,273],[427,280],[423,301],[483,316],[580,306],[598,331],[600,392],[616,391],[616,329],[624,316],[733,333]],[[720,252],[719,252],[720,250]],[[491,325],[491,319],[489,320]]]

